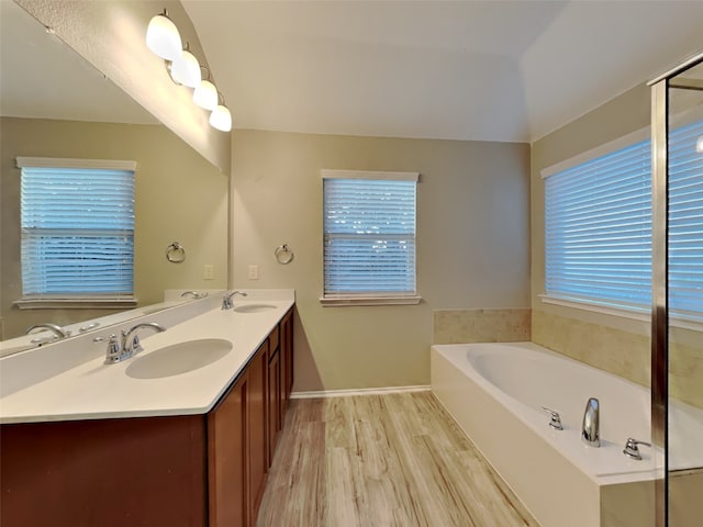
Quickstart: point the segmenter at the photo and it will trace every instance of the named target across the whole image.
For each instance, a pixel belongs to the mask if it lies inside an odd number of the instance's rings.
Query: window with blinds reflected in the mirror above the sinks
[[[133,161],[18,158],[22,306],[134,302]]]

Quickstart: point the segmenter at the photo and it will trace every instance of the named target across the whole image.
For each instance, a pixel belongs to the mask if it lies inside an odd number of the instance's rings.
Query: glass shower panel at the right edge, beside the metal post
[[[667,517],[688,527],[703,522],[703,61],[667,98]]]

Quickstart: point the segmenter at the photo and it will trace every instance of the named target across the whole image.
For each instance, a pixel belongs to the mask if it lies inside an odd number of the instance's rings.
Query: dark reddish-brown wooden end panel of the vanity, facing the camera
[[[204,441],[201,415],[1,425],[0,525],[205,526]]]

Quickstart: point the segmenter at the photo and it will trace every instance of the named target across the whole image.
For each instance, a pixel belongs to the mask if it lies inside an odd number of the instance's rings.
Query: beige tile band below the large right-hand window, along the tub
[[[649,336],[539,310],[533,311],[532,322],[535,344],[649,386]],[[669,354],[670,395],[703,408],[703,344],[671,343]]]

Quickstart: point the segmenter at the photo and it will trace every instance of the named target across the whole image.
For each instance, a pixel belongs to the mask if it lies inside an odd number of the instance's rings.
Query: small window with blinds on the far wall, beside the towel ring
[[[323,170],[323,304],[416,304],[416,172]]]

